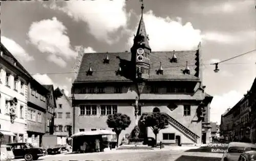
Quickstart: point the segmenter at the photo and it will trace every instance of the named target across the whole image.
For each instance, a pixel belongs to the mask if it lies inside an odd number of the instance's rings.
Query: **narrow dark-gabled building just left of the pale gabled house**
[[[54,110],[56,108],[56,101],[54,95],[53,85],[43,85],[49,92],[47,93],[47,111],[45,116],[46,134],[52,135],[54,133]]]

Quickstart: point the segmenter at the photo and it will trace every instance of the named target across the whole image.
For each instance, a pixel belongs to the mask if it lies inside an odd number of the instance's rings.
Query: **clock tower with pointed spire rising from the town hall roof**
[[[141,1],[142,2],[142,1]],[[134,71],[134,79],[138,84],[139,93],[142,92],[145,81],[147,81],[150,75],[150,55],[151,48],[148,43],[148,35],[146,34],[145,23],[143,21],[143,9],[141,6],[141,18],[138,25],[138,30],[134,36],[134,43],[131,48],[132,63]]]

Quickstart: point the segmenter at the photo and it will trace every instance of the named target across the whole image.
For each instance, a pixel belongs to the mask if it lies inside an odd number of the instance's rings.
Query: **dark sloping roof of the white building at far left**
[[[15,68],[17,68],[19,71],[26,74],[28,77],[31,77],[29,72],[20,64],[17,59],[12,55],[12,53],[1,43],[1,50],[3,51],[3,59],[10,63],[12,66],[14,66],[14,63],[16,62]],[[2,59],[2,57],[1,57]]]

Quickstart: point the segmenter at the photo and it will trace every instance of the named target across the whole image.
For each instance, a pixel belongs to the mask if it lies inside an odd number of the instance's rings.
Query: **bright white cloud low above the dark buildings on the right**
[[[243,94],[237,91],[229,91],[221,96],[214,96],[210,104],[210,121],[220,124],[221,115],[228,108],[232,108],[241,98],[243,98]]]

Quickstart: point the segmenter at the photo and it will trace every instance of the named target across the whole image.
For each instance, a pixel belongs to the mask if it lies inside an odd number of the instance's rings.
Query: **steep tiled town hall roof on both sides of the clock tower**
[[[104,64],[103,60],[108,54],[109,64]],[[121,67],[122,71],[131,74],[131,52],[113,53],[84,53],[80,69],[75,83],[78,82],[119,82],[131,81],[129,75],[117,75],[116,71]],[[175,51],[177,63],[170,63],[173,51],[154,51],[150,54],[150,77],[148,81],[199,81],[198,77],[198,50],[194,51]],[[190,68],[190,74],[183,74],[182,70],[186,67],[186,61]],[[160,62],[162,63],[163,75],[157,74]],[[87,75],[91,64],[92,75]]]

